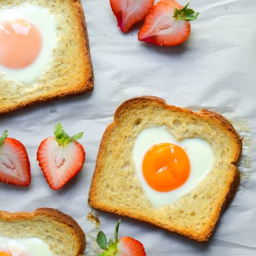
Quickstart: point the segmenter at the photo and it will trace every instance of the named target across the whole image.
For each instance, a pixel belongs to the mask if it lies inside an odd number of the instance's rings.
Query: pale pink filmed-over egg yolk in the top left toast
[[[0,65],[27,67],[36,60],[41,47],[40,31],[32,22],[16,19],[0,23]]]

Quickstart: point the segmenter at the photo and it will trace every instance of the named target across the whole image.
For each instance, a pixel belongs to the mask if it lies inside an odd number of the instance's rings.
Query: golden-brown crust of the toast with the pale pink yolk
[[[78,84],[75,85],[67,85],[62,86],[59,89],[59,85],[52,85],[51,81],[47,81],[45,84],[45,87],[47,90],[44,92],[38,93],[32,93],[32,96],[30,94],[26,96],[21,96],[20,99],[10,100],[7,102],[2,102],[0,107],[0,115],[7,114],[10,112],[13,112],[15,110],[18,110],[20,108],[27,108],[34,105],[38,105],[43,102],[47,101],[54,101],[62,98],[68,98],[76,95],[80,95],[83,93],[90,92],[94,89],[94,74],[93,74],[93,67],[92,67],[92,61],[90,57],[90,50],[89,50],[89,40],[88,40],[88,34],[87,34],[87,27],[86,27],[86,21],[84,12],[81,6],[80,0],[67,0],[70,4],[71,11],[73,12],[74,19],[77,23],[77,29],[78,31],[76,33],[80,34],[79,36],[79,44],[80,44],[80,51],[81,55],[79,56],[79,62],[82,63],[82,66],[85,69],[85,75],[79,80]],[[74,60],[75,61],[75,60]],[[62,84],[65,83],[65,75],[62,78],[61,81]],[[13,92],[15,94],[16,92]],[[0,95],[1,96],[1,95]],[[5,97],[3,95],[3,97]],[[0,97],[1,99],[1,97]]]

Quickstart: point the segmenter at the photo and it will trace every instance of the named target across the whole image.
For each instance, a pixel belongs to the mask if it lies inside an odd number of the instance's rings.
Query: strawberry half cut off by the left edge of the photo
[[[0,182],[28,186],[31,174],[27,150],[20,141],[7,136],[6,130],[0,137]]]

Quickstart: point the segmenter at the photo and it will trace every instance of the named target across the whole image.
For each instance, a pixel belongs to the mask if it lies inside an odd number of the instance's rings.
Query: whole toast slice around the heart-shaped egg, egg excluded
[[[152,126],[165,126],[178,141],[202,138],[214,154],[210,172],[195,189],[160,209],[146,197],[132,158],[137,135]],[[241,151],[242,139],[222,115],[169,106],[157,97],[133,98],[117,108],[105,130],[88,202],[95,209],[205,242],[239,186]]]

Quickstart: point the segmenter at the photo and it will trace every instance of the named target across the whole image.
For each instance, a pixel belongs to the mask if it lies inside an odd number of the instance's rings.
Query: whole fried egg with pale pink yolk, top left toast
[[[0,10],[0,75],[33,84],[51,61],[56,27],[54,16],[40,6]]]

